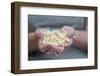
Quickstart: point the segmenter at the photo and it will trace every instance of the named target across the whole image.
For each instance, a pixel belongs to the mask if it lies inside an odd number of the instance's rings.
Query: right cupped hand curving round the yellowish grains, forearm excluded
[[[66,34],[68,34],[69,38],[70,38],[70,41],[68,43],[65,42],[64,44],[64,47],[70,47],[73,43],[73,36],[75,34],[75,30],[73,27],[70,27],[70,26],[63,26],[61,28],[62,31],[64,31]]]

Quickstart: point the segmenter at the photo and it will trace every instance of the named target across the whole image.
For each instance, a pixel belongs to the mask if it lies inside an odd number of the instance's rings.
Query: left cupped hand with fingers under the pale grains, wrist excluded
[[[53,45],[43,43],[43,37],[45,35],[45,32],[47,31],[48,29],[45,28],[37,29],[35,31],[35,36],[38,39],[39,50],[45,54],[55,54],[55,55],[61,54],[64,50],[64,47],[61,46],[58,47],[58,46],[53,46]]]

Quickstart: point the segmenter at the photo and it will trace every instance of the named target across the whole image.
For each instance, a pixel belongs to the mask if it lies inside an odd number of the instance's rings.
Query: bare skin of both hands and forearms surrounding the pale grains
[[[65,43],[64,46],[52,46],[43,43],[43,37],[47,29],[37,29],[35,32],[29,33],[29,52],[31,53],[32,49],[39,49],[45,54],[61,54],[64,51],[64,48],[68,48],[71,45],[74,45],[83,50],[87,49],[87,27],[84,31],[75,30],[73,27],[65,25],[61,28],[62,31],[66,32],[69,37],[69,43]]]

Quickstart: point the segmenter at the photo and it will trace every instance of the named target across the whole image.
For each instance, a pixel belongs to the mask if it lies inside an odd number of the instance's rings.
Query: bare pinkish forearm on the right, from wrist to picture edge
[[[77,31],[75,30],[75,36],[73,37],[73,45],[86,50],[87,49],[87,32],[86,31]]]

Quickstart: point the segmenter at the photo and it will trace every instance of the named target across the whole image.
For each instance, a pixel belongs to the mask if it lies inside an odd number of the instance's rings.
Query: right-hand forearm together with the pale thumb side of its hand
[[[83,31],[75,30],[73,27],[69,27],[69,26],[64,26],[62,30],[67,32],[68,35],[72,38],[73,40],[72,45],[80,49],[87,50],[87,43],[88,43],[87,26]]]

